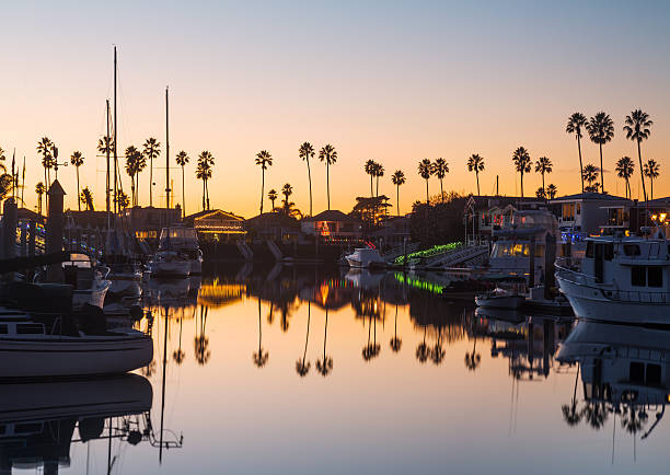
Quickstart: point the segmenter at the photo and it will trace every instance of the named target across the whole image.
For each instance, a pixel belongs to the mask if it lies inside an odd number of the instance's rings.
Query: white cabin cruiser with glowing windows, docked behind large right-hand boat
[[[488,259],[488,271],[504,276],[528,276],[530,273],[531,243],[534,239],[534,278],[539,282],[544,268],[546,236],[556,242],[561,253],[558,221],[550,211],[517,211],[511,225],[494,231],[494,243]]]

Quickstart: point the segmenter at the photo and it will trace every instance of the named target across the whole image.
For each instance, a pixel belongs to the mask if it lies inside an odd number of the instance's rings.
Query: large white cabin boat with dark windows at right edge
[[[556,281],[581,318],[670,324],[670,250],[660,231],[588,238],[580,270],[557,265]]]

